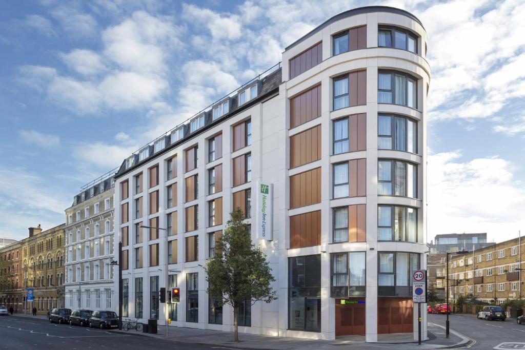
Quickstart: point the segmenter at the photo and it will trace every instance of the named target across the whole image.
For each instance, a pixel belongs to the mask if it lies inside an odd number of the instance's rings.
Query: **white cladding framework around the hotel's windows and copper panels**
[[[341,53],[337,56],[332,55],[333,52],[333,36],[343,30],[366,25],[366,48],[354,51]],[[419,54],[409,52],[406,49],[378,47],[378,30],[380,28],[398,28],[401,31],[411,33],[416,37],[416,47]],[[316,45],[322,41],[322,60],[318,65],[300,73],[295,78],[289,79],[289,61],[295,58],[301,52]],[[282,81],[278,86],[278,91],[268,92],[259,91],[257,98],[264,96],[257,103],[250,105],[247,109],[232,109],[232,114],[223,121],[216,124],[206,122],[201,133],[196,133],[194,137],[187,136],[185,141],[171,147],[165,152],[159,153],[158,156],[150,156],[144,158],[144,162],[137,164],[137,160],[127,160],[121,166],[120,171],[116,175],[115,186],[115,218],[116,228],[118,232],[117,239],[114,240],[114,249],[118,249],[118,241],[122,239],[122,230],[127,227],[129,244],[123,247],[123,251],[128,251],[129,269],[123,271],[122,278],[127,280],[128,294],[127,294],[127,314],[123,316],[139,318],[142,321],[149,317],[159,316],[159,324],[164,324],[164,305],[160,304],[159,312],[151,311],[151,304],[156,303],[154,300],[158,297],[156,291],[156,284],[153,286],[154,291],[151,290],[151,281],[158,279],[158,287],[172,287],[174,284],[166,285],[166,275],[176,275],[172,279],[176,280],[176,285],[181,288],[181,301],[177,305],[176,311],[170,310],[172,318],[172,326],[182,327],[196,327],[207,328],[213,330],[232,331],[233,330],[233,315],[232,310],[228,306],[224,306],[222,314],[222,324],[212,324],[209,322],[209,301],[206,294],[206,279],[203,270],[206,259],[209,257],[209,233],[224,229],[224,224],[229,218],[229,212],[233,209],[233,193],[239,190],[251,189],[251,218],[246,219],[251,225],[251,236],[253,241],[260,245],[265,254],[267,254],[270,262],[270,267],[274,272],[276,282],[274,289],[278,292],[278,300],[270,304],[256,303],[251,306],[251,322],[250,326],[239,327],[240,332],[267,334],[276,336],[292,336],[292,337],[306,337],[306,338],[322,338],[333,339],[337,332],[341,332],[340,325],[336,323],[336,313],[342,312],[339,308],[343,304],[340,299],[355,301],[358,299],[351,296],[336,297],[332,296],[332,287],[334,286],[332,275],[333,266],[332,259],[335,254],[342,252],[362,252],[365,257],[365,283],[360,284],[365,290],[359,299],[359,303],[364,303],[364,312],[366,314],[364,328],[367,342],[376,342],[378,333],[385,333],[384,329],[378,330],[378,313],[379,305],[385,300],[397,302],[399,299],[395,293],[399,290],[408,292],[409,282],[408,277],[412,269],[412,264],[416,264],[417,268],[426,268],[426,96],[427,87],[429,84],[430,70],[428,62],[425,59],[426,51],[426,33],[419,21],[397,9],[384,9],[382,7],[357,9],[355,12],[347,12],[339,16],[335,16],[327,23],[314,29],[310,34],[303,37],[298,43],[293,44],[290,48],[285,50],[282,55]],[[365,89],[365,103],[355,105],[353,107],[345,107],[334,110],[334,78],[342,75],[347,75],[349,72],[357,70],[366,70],[366,89]],[[378,76],[381,72],[405,73],[409,75],[417,86],[417,107],[406,107],[405,105],[394,103],[378,103]],[[394,77],[394,76],[392,76]],[[262,90],[265,89],[265,79],[270,79],[270,76],[261,79]],[[393,78],[395,79],[395,78]],[[269,82],[266,82],[269,84]],[[291,107],[290,101],[303,91],[307,91],[312,87],[319,86],[321,91],[321,112],[318,118],[311,119],[294,128],[290,125]],[[395,90],[395,89],[393,89]],[[348,92],[348,91],[347,91]],[[397,93],[392,91],[392,94]],[[401,93],[401,92],[399,92]],[[236,102],[236,101],[235,101]],[[334,121],[343,117],[365,113],[366,132],[360,137],[365,137],[365,149],[355,152],[341,152],[334,154]],[[388,115],[394,120],[395,117],[405,118],[414,122],[417,130],[417,151],[407,152],[403,150],[378,150],[378,115]],[[251,121],[251,143],[240,150],[233,150],[234,132],[233,126],[236,124],[250,120]],[[301,164],[297,167],[290,166],[290,138],[294,135],[306,131],[314,126],[320,126],[321,130],[321,146],[320,156],[317,160]],[[178,129],[177,129],[178,130]],[[208,162],[209,144],[208,140],[218,133],[222,133],[222,157]],[[397,137],[397,136],[396,136]],[[405,136],[403,136],[405,137]],[[392,136],[394,138],[394,136]],[[393,141],[394,142],[394,141]],[[185,172],[186,153],[188,147],[198,145],[198,161],[196,169]],[[397,147],[397,146],[396,146]],[[393,148],[396,148],[393,147]],[[383,147],[384,148],[384,147]],[[233,159],[250,153],[251,155],[251,181],[245,184],[234,186],[234,161]],[[172,179],[167,179],[166,162],[174,156],[177,156],[177,175]],[[134,158],[133,158],[134,159]],[[345,163],[348,164],[353,160],[365,159],[365,191],[366,194],[362,196],[343,196],[334,199],[334,164]],[[414,166],[415,179],[411,179],[411,183],[417,186],[415,193],[412,196],[407,195],[378,195],[378,166],[380,161],[402,161],[405,164]],[[159,184],[150,188],[149,183],[149,169],[152,166],[159,166]],[[222,192],[209,195],[208,194],[208,169],[222,164]],[[395,164],[395,163],[392,163]],[[320,168],[320,194],[321,198],[318,203],[309,204],[306,206],[291,206],[291,177],[301,174],[311,169]],[[143,186],[140,193],[135,193],[135,177],[138,174],[143,174]],[[186,178],[193,175],[198,175],[198,197],[195,200],[186,202],[185,183]],[[396,173],[397,174],[397,173]],[[384,174],[383,174],[384,175]],[[383,176],[382,175],[382,176]],[[347,182],[348,181],[347,175]],[[121,184],[128,181],[129,196],[122,196]],[[259,240],[258,227],[256,224],[257,204],[256,198],[258,194],[258,183],[262,181],[273,185],[273,226],[272,237],[273,240]],[[403,184],[406,187],[408,178],[404,177]],[[167,203],[167,186],[177,183],[177,199],[173,207],[168,208]],[[417,184],[417,185],[416,185]],[[394,179],[391,179],[390,185],[392,188],[397,186]],[[346,185],[347,187],[350,185]],[[394,189],[392,189],[394,191]],[[397,190],[397,187],[395,187]],[[150,198],[155,198],[149,195],[151,192],[159,191],[159,210],[154,214],[148,214]],[[384,190],[384,188],[382,189]],[[408,192],[407,192],[408,193]],[[142,197],[142,215],[135,218],[136,200]],[[208,222],[208,201],[217,197],[222,197],[222,222],[223,225],[210,227]],[[118,204],[117,204],[118,203]],[[173,203],[175,200],[173,199]],[[185,210],[188,207],[198,205],[198,229],[186,232]],[[334,242],[334,209],[340,207],[350,207],[354,205],[364,205],[365,211],[365,240],[349,241],[348,242]],[[122,208],[128,206],[129,221],[122,219]],[[379,218],[378,207],[390,206],[392,210],[392,222],[390,223],[391,239],[384,239],[380,237],[378,232]],[[396,207],[405,208],[399,213],[417,213],[414,227],[409,227],[410,224],[400,221],[398,217],[394,218],[393,213],[397,213]],[[124,209],[125,210],[125,209]],[[145,226],[150,225],[152,218],[159,218],[158,225],[160,228],[167,226],[167,214],[177,211],[177,234],[166,236],[166,231],[161,230],[159,237],[151,241],[148,240],[148,229],[143,229],[142,242],[135,242],[135,224]],[[313,211],[320,211],[320,243],[318,245],[292,248],[296,243],[291,243],[291,224],[290,217],[297,217],[298,215],[312,213]],[[403,218],[410,220],[408,214],[403,214]],[[348,219],[348,216],[347,216]],[[390,220],[390,219],[389,219]],[[411,221],[412,222],[412,221]],[[397,239],[398,232],[401,232],[401,224],[403,230],[406,227],[406,234],[403,233],[403,238]],[[348,222],[347,222],[347,226]],[[385,232],[382,225],[381,232]],[[388,229],[388,228],[386,228]],[[394,231],[395,235],[394,236]],[[405,232],[405,231],[403,231]],[[198,236],[198,258],[196,261],[186,262],[186,238]],[[382,233],[384,235],[384,233]],[[406,235],[406,236],[405,236]],[[410,235],[413,235],[412,238]],[[395,240],[394,239],[397,239]],[[382,238],[382,239],[380,239]],[[166,271],[165,264],[167,259],[166,240],[177,240],[177,262],[170,263]],[[159,261],[149,266],[150,247],[158,244]],[[138,248],[142,248],[142,266],[135,267],[135,252]],[[394,260],[387,261],[388,255],[394,254],[392,259],[397,261],[397,268],[394,268]],[[396,255],[401,253],[401,255]],[[410,255],[413,253],[413,255]],[[419,255],[415,255],[415,254]],[[293,289],[289,283],[292,277],[289,266],[293,263],[292,258],[316,256],[320,259],[320,285],[319,296],[317,299],[306,298],[304,296],[304,304],[299,306],[299,309],[293,309],[296,320],[293,322],[293,316],[290,316],[289,310],[291,296],[289,293]],[[416,257],[417,260],[412,260]],[[383,259],[386,260],[383,260]],[[405,260],[406,258],[406,260]],[[380,259],[381,266],[380,266]],[[410,260],[408,260],[410,259]],[[299,260],[298,260],[299,261]],[[348,260],[347,260],[348,261]],[[407,265],[405,271],[402,269],[403,264]],[[392,264],[394,269],[391,273],[392,281],[401,283],[406,280],[406,284],[395,284],[393,290],[394,295],[386,295],[385,291],[389,287],[390,275],[387,275],[386,270]],[[348,262],[347,262],[348,264]],[[384,266],[383,266],[384,265]],[[167,272],[167,273],[166,273]],[[187,300],[186,295],[188,284],[188,274],[198,273],[198,322],[188,322]],[[381,272],[381,273],[380,273]],[[347,274],[349,272],[346,272]],[[304,277],[304,276],[303,276]],[[350,275],[351,277],[351,275]],[[137,294],[137,286],[135,281],[142,279],[142,299],[140,294]],[[381,282],[379,282],[381,280]],[[385,282],[386,281],[386,282]],[[386,284],[385,284],[386,283]],[[394,282],[392,282],[394,283]],[[404,283],[404,282],[403,282]],[[378,287],[378,284],[379,287]],[[195,287],[195,286],[194,286]],[[352,288],[350,284],[349,287]],[[301,288],[299,288],[301,289]],[[302,293],[302,292],[301,292]],[[157,295],[157,296],[156,296]],[[306,294],[305,294],[306,295]],[[126,297],[124,297],[126,298]],[[138,299],[141,300],[142,314],[137,313]],[[301,299],[302,294],[294,299]],[[396,299],[397,298],[397,299]],[[311,303],[313,301],[313,303]],[[320,310],[318,309],[317,300],[320,302]],[[408,294],[404,296],[407,305],[411,304],[411,296]],[[310,304],[309,304],[310,303]],[[195,306],[194,304],[192,304]],[[297,307],[293,306],[293,307]],[[302,307],[303,309],[300,309]],[[412,324],[406,325],[413,332],[414,339],[417,339],[417,309],[416,306],[410,306]],[[426,338],[426,304],[422,305],[423,317],[423,339]],[[302,311],[301,311],[302,310]],[[406,310],[405,310],[406,311]],[[301,315],[301,313],[307,315]],[[175,320],[176,313],[176,320]],[[316,317],[311,317],[312,314],[320,314]],[[193,316],[192,316],[193,317]],[[306,317],[297,320],[297,317]],[[309,318],[310,317],[310,318]],[[363,315],[364,317],[364,315]],[[192,318],[192,320],[195,320]],[[309,325],[307,325],[309,324]],[[298,330],[297,326],[304,326],[304,330]],[[307,328],[310,327],[310,330]],[[292,329],[296,328],[296,329]],[[316,328],[316,331],[311,331]],[[318,329],[317,329],[318,328]],[[391,331],[386,333],[393,333],[394,328],[388,328]],[[339,330],[339,331],[338,331]],[[339,333],[341,334],[341,333]]]

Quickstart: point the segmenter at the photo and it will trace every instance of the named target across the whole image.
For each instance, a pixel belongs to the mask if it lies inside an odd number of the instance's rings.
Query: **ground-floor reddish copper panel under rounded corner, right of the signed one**
[[[412,312],[412,299],[377,298],[377,333],[412,333]]]

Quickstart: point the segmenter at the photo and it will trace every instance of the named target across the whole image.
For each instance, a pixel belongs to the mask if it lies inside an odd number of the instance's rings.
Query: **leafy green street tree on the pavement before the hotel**
[[[208,294],[233,307],[234,341],[239,341],[237,313],[241,303],[266,303],[277,299],[270,283],[275,281],[266,255],[251,242],[244,214],[237,208],[230,213],[226,229],[215,243],[213,258],[206,263]]]

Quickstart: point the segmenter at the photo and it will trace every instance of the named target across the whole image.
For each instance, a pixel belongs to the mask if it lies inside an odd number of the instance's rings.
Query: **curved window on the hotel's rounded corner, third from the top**
[[[417,153],[417,123],[395,115],[377,117],[377,148]]]

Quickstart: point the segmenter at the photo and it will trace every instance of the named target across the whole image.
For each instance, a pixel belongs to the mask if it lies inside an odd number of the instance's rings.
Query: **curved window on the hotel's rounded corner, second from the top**
[[[417,79],[402,72],[379,71],[377,103],[400,104],[417,109]]]

